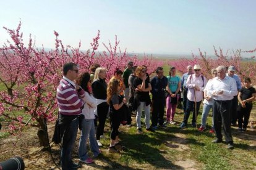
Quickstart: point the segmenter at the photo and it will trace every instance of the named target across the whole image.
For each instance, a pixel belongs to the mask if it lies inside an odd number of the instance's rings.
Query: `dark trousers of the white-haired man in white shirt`
[[[213,124],[215,127],[216,138],[222,140],[222,125],[224,137],[228,144],[233,144],[230,123],[231,106],[232,100],[213,100]]]

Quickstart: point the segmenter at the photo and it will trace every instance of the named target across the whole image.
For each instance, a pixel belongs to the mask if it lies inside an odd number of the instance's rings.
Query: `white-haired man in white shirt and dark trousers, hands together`
[[[221,125],[223,126],[225,140],[228,148],[234,148],[231,134],[231,106],[234,95],[237,95],[236,80],[226,76],[226,68],[219,66],[218,77],[213,78],[208,92],[213,95],[213,124],[215,126],[216,139],[214,143],[222,142]]]

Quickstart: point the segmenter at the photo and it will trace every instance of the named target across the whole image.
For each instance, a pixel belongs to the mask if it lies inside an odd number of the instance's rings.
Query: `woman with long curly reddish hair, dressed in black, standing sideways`
[[[110,145],[108,152],[116,153],[118,150],[115,148],[119,144],[118,128],[122,120],[122,108],[126,103],[126,99],[120,95],[121,86],[119,79],[111,79],[108,83],[107,88],[107,103],[110,106],[110,123],[111,123],[111,134],[110,134]]]

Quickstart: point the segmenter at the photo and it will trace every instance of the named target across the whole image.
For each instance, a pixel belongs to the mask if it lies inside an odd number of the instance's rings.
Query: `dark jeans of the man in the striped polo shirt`
[[[72,149],[75,144],[75,139],[77,138],[77,131],[79,126],[79,118],[73,119],[69,126],[64,130],[62,139],[65,140],[61,148],[61,168],[70,169],[72,168]]]

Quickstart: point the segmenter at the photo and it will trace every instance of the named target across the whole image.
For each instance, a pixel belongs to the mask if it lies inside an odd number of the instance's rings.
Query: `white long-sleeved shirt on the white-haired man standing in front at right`
[[[223,91],[223,94],[213,96],[215,100],[232,100],[234,95],[237,95],[236,80],[229,76],[225,76],[224,79],[213,78],[208,91],[213,94],[217,91]]]

